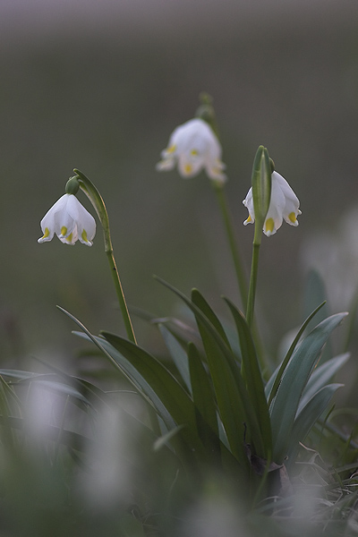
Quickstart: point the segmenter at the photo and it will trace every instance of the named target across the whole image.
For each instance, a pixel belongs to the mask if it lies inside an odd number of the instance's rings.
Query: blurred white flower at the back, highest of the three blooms
[[[157,164],[160,171],[172,170],[177,164],[180,175],[188,178],[205,168],[210,179],[220,183],[226,181],[220,143],[209,124],[202,119],[191,119],[176,127],[161,157]]]

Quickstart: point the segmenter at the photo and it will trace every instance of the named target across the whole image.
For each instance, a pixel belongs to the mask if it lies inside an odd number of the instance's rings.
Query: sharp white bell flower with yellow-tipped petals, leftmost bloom
[[[77,240],[92,246],[96,234],[96,220],[81,205],[73,194],[64,194],[49,209],[40,222],[42,233],[38,243],[51,241],[54,234],[64,244],[74,244]]]

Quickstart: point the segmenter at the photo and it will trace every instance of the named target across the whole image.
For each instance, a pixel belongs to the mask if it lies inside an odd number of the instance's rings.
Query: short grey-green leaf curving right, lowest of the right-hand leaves
[[[299,442],[303,442],[311,428],[326,410],[329,401],[334,396],[338,388],[343,384],[328,384],[320,388],[304,406],[301,413],[294,420],[288,444],[288,464],[293,464],[299,449]]]

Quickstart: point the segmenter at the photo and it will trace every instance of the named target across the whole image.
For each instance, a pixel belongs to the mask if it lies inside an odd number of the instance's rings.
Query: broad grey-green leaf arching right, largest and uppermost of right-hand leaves
[[[307,384],[312,368],[319,358],[329,335],[345,318],[346,313],[332,315],[323,320],[303,339],[288,363],[277,395],[271,406],[273,457],[280,464],[286,456],[294,418],[303,388]]]

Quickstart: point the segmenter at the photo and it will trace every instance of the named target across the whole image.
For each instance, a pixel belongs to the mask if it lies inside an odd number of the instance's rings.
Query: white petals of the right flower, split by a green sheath
[[[255,221],[253,211],[252,188],[243,200],[243,205],[249,211],[249,217],[243,222],[244,226]],[[290,226],[298,226],[298,215],[301,215],[300,200],[287,183],[286,179],[277,172],[272,173],[271,200],[269,202],[268,214],[263,226],[263,232],[268,237],[277,232],[285,219]]]

